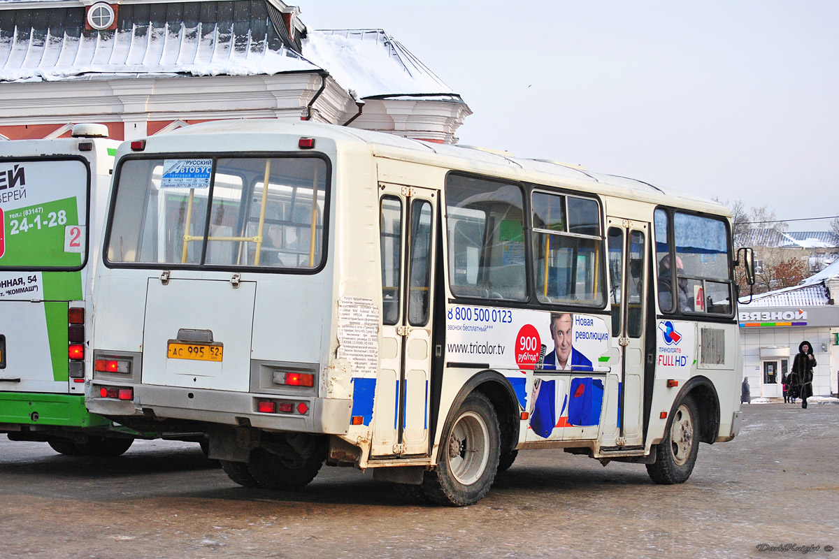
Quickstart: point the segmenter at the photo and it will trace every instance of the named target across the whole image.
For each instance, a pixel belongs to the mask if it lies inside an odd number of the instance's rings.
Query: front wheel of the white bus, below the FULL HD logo
[[[655,448],[655,463],[647,464],[657,484],[681,484],[690,478],[699,450],[699,410],[690,396],[676,402],[664,438]]]

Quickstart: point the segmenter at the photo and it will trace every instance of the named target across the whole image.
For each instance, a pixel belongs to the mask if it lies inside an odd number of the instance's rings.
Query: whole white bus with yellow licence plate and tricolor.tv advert
[[[740,428],[730,219],[631,179],[303,122],[126,142],[88,408],[477,502],[526,448],[685,481]]]

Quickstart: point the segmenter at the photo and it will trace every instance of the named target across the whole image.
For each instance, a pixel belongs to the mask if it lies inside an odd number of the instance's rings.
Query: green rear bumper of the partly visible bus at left
[[[13,425],[110,427],[104,417],[89,413],[79,395],[0,392],[0,432]]]

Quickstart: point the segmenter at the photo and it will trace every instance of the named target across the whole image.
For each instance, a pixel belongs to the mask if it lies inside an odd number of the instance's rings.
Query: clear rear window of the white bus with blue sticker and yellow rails
[[[320,158],[127,160],[117,178],[107,260],[320,267],[327,184]]]

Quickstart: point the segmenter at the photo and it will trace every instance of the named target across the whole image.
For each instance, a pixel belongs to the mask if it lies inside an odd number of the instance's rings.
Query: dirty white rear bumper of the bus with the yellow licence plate
[[[107,417],[143,417],[143,410],[155,417],[241,427],[250,425],[270,431],[312,432],[344,435],[350,426],[352,400],[278,396],[253,392],[216,391],[176,386],[125,385],[134,389],[133,401],[102,398],[99,389],[120,386],[114,382],[91,380],[87,409]],[[257,401],[293,401],[290,413],[261,413]],[[300,413],[304,402],[308,410]]]

